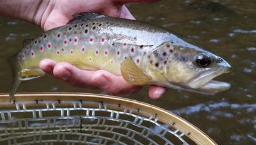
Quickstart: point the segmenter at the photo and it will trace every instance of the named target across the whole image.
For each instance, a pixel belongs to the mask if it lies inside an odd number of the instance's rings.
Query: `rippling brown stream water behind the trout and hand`
[[[148,98],[148,87],[125,96],[170,110],[206,132],[218,144],[256,144],[256,2],[253,0],[165,0],[155,4],[132,4],[140,21],[161,25],[218,54],[233,66],[231,74],[218,77],[231,89],[214,96],[169,90],[159,100]],[[25,38],[42,32],[38,26],[0,18],[0,92],[11,87],[6,58],[21,48]],[[50,76],[25,81],[18,92],[71,91],[104,93],[68,86]]]

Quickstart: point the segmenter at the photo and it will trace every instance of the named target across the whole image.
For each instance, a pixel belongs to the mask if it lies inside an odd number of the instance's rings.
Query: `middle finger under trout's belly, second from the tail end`
[[[55,78],[80,88],[95,88],[95,85],[91,83],[91,76],[94,72],[78,69],[67,62],[56,64],[53,70]]]

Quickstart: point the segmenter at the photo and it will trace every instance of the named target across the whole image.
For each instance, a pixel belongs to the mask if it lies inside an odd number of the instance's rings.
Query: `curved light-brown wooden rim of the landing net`
[[[86,100],[86,101],[98,101],[104,103],[112,103],[117,105],[125,105],[132,108],[140,108],[146,112],[152,112],[156,114],[156,117],[171,127],[180,129],[185,132],[185,136],[189,137],[196,144],[216,144],[211,137],[207,136],[200,129],[195,127],[182,117],[175,115],[168,110],[160,107],[156,107],[149,103],[144,103],[142,101],[132,100],[129,98],[122,98],[119,96],[112,95],[102,95],[102,94],[92,94],[92,93],[17,93],[15,98],[10,102],[8,93],[0,93],[0,108],[11,108],[15,107],[16,101],[37,101],[37,100],[47,100],[47,101],[59,101],[59,100]],[[38,105],[33,103],[31,105]],[[117,108],[118,109],[118,108]]]

